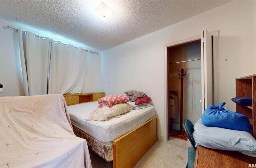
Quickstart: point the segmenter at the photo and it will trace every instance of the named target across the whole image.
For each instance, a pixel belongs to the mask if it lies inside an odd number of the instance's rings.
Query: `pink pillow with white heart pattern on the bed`
[[[104,98],[98,100],[99,106],[98,107],[111,107],[117,103],[125,103],[128,102],[129,98],[126,95],[108,95]]]

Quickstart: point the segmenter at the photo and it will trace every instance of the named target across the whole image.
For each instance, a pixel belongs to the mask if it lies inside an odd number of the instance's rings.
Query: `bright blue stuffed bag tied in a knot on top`
[[[220,103],[219,106],[211,104],[204,110],[202,123],[208,127],[220,127],[238,131],[251,131],[249,119],[240,113],[232,112],[222,108],[226,103]]]

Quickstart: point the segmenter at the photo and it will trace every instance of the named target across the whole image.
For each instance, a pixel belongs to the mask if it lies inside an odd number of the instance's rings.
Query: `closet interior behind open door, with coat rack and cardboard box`
[[[202,116],[201,39],[167,47],[167,62],[168,139],[187,140],[184,119],[195,124]]]

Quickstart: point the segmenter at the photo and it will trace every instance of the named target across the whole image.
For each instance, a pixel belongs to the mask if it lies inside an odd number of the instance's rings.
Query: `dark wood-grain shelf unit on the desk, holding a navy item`
[[[256,74],[236,78],[236,97],[252,96],[252,107],[236,104],[236,112],[248,117],[256,139]]]

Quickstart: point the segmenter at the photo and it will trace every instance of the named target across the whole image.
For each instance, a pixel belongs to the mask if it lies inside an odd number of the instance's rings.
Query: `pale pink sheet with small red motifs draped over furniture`
[[[0,167],[91,167],[60,94],[0,97]]]

